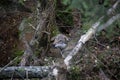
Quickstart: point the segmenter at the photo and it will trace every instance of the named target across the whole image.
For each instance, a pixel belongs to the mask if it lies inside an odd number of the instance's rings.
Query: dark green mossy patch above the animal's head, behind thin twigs
[[[56,6],[56,20],[60,26],[73,25],[72,10],[68,8],[68,4],[70,4],[71,1],[72,0],[62,0],[63,4],[58,2],[58,6]]]

